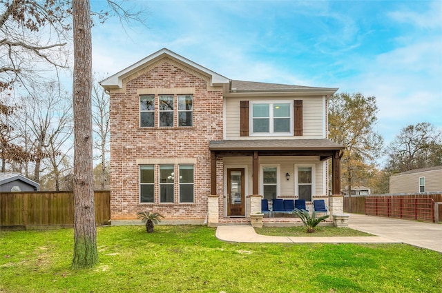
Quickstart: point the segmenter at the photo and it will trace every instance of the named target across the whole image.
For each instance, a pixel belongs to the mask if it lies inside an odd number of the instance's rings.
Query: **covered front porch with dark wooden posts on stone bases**
[[[342,145],[329,139],[211,141],[209,145],[211,195],[208,201],[208,224],[250,223],[250,214],[260,213],[261,199],[271,198],[271,194],[273,198],[278,199],[300,198],[296,166],[304,166],[305,162],[313,166],[313,172],[310,170],[313,177],[315,163],[319,166],[316,168],[318,174],[316,182],[318,182],[317,185],[321,185],[317,188],[318,193],[311,191],[308,205],[312,208],[313,199],[325,199],[329,206],[329,214],[343,213],[343,196],[340,195],[340,151],[343,148]],[[332,160],[332,195],[330,196],[327,184],[328,164],[324,163],[329,159]],[[278,165],[278,168],[274,169],[275,174],[278,169],[278,181],[280,181],[278,190],[276,191],[275,188],[270,195],[271,184],[263,183],[267,182],[263,179],[266,178],[265,175],[263,176],[265,172],[263,170],[268,165]],[[290,172],[289,168],[294,172]],[[296,178],[293,178],[294,175]],[[289,180],[290,176],[292,176],[291,180]],[[238,178],[238,181],[231,182],[232,178]],[[265,218],[264,221],[275,225],[296,225],[300,219],[291,215],[278,214],[273,218]]]

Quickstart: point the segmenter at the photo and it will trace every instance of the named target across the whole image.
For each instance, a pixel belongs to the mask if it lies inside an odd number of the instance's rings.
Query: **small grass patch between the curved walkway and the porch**
[[[305,226],[295,227],[262,227],[255,228],[257,234],[269,236],[374,236],[373,234],[353,230],[350,228],[335,228],[316,226],[314,233],[307,233]]]

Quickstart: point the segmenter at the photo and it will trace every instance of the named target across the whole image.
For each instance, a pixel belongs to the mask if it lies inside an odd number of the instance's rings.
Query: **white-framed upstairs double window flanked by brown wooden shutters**
[[[302,136],[302,100],[240,101],[240,135]]]

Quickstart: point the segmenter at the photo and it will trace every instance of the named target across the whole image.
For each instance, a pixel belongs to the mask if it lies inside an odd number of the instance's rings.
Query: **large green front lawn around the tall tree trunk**
[[[0,292],[441,292],[442,254],[410,245],[225,243],[202,226],[98,228],[99,265],[70,270],[73,230],[0,234]]]

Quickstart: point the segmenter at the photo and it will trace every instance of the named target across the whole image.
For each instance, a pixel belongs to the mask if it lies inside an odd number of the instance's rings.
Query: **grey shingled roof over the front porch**
[[[343,150],[329,139],[266,139],[211,141],[210,150]]]

